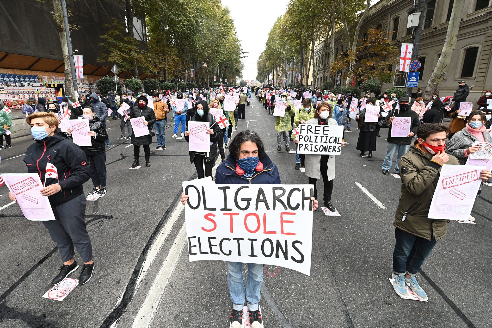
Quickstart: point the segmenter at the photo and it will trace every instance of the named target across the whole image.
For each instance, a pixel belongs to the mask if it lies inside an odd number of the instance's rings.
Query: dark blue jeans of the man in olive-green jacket
[[[437,240],[427,240],[395,228],[395,249],[393,251],[393,271],[395,274],[416,275],[431,254]]]

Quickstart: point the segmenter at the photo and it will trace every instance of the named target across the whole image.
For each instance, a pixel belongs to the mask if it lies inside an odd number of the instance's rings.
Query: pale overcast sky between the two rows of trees
[[[260,57],[268,39],[268,33],[277,18],[287,10],[287,0],[222,0],[227,6],[241,40],[241,47],[246,52],[243,58],[243,79],[256,78],[256,61]]]

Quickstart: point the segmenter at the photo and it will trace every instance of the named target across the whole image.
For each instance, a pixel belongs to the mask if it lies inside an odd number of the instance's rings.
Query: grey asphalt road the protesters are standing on
[[[295,154],[277,151],[274,125],[253,97],[238,127],[262,136],[282,183],[307,183],[294,170]],[[86,210],[94,276],[64,301],[41,297],[61,265],[55,243],[40,222],[9,205],[7,188],[0,188],[0,328],[227,327],[225,263],[187,258],[178,202],[182,181],[196,178],[187,143],[171,139],[168,124],[167,149],[153,150],[152,167],[128,170],[133,149],[116,139],[119,121],[108,128],[108,192]],[[373,158],[362,158],[353,129],[337,158],[332,202],[341,217],[314,213],[310,276],[286,268],[275,277],[264,274],[265,327],[491,327],[492,188],[484,186],[475,202],[476,224],[451,222],[418,274],[429,302],[401,299],[388,281],[400,179],[381,174],[386,141],[378,138]],[[0,150],[0,172],[25,173],[22,159],[31,142],[14,139],[11,149]],[[89,181],[84,190],[91,189]]]

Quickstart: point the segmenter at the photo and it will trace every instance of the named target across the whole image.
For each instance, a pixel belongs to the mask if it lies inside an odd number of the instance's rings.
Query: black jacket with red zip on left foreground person
[[[51,206],[62,205],[84,192],[83,183],[89,180],[89,163],[86,154],[64,135],[56,133],[51,137],[36,140],[26,150],[24,162],[28,173],[39,175],[44,182],[46,164],[53,164],[58,170],[58,182],[62,190],[48,196]],[[47,179],[46,185],[57,183],[56,179]]]

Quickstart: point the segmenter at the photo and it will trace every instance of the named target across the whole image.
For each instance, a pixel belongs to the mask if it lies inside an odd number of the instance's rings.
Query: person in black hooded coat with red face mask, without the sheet
[[[147,97],[140,96],[137,98],[137,103],[136,106],[133,106],[130,110],[130,119],[138,118],[138,117],[144,117],[145,121],[143,122],[144,125],[147,125],[149,130],[151,127],[154,125],[156,119],[155,119],[155,113],[152,108],[147,107]],[[140,146],[144,147],[144,152],[145,152],[145,166],[150,167],[151,166],[151,148],[150,144],[152,144],[152,137],[150,134],[141,136],[141,137],[135,137],[135,132],[131,131],[131,144],[133,145],[133,156],[135,157],[135,160],[133,161],[133,164],[131,165],[132,168],[137,167],[140,165],[140,162],[138,161],[138,156],[140,155]]]

